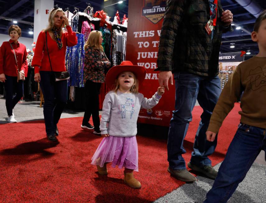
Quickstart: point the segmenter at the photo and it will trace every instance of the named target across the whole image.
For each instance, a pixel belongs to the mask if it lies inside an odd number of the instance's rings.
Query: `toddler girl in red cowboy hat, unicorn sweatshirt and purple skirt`
[[[106,84],[113,90],[105,95],[103,103],[100,131],[104,138],[91,158],[91,164],[97,165],[102,175],[107,175],[109,162],[112,167],[124,167],[124,182],[133,188],[141,187],[133,176],[133,170],[138,171],[138,113],[141,107],[150,109],[158,104],[165,89],[158,87],[151,99],[145,98],[138,92],[145,76],[145,68],[133,66],[130,61],[123,61],[107,72]]]

